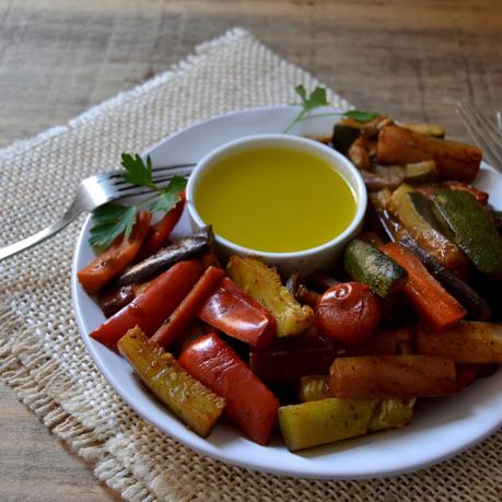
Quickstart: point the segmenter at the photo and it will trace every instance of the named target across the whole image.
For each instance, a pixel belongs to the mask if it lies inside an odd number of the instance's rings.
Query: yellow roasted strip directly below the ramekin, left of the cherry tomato
[[[282,285],[276,269],[254,258],[231,256],[229,277],[246,293],[268,308],[277,320],[277,336],[287,337],[306,331],[314,323],[314,312],[300,305]]]

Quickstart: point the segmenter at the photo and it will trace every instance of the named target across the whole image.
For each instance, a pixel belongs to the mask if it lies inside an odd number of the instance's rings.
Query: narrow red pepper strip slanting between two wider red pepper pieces
[[[188,328],[202,303],[215,290],[224,275],[225,272],[221,268],[209,267],[206,269],[192,290],[155,331],[152,340],[161,347],[170,347]]]

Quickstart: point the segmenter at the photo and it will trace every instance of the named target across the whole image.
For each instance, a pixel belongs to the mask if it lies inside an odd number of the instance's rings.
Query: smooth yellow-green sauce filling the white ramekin
[[[218,161],[194,197],[201,219],[221,237],[269,253],[325,244],[355,215],[355,195],[341,174],[312,153],[284,148]]]

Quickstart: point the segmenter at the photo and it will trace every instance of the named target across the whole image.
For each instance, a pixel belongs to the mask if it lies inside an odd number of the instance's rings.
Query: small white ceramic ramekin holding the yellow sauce
[[[213,165],[230,154],[250,151],[262,147],[281,147],[292,150],[301,150],[304,152],[311,152],[318,157],[326,160],[331,167],[339,172],[352,187],[357,200],[355,215],[350,225],[341,234],[320,246],[292,253],[268,253],[240,246],[238,244],[230,242],[215,234],[218,252],[223,258],[226,258],[230,255],[253,256],[260,258],[266,264],[278,267],[279,271],[283,276],[288,276],[293,271],[308,273],[316,269],[332,269],[340,257],[345,245],[361,230],[364,212],[366,210],[367,196],[366,187],[358,168],[342,154],[318,141],[287,135],[258,135],[231,141],[230,143],[213,150],[197,164],[188,179],[186,190],[187,207],[192,227],[197,230],[211,223],[210,221],[203,221],[200,218],[194,202],[200,175],[203,172],[211,170]],[[335,200],[334,203],[336,203]],[[245,224],[243,222],[243,231],[245,231],[244,225]]]

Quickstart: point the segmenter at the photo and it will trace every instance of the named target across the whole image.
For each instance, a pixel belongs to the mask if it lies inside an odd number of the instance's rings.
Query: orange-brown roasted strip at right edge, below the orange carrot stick
[[[502,363],[502,326],[463,320],[450,331],[436,335],[427,326],[417,329],[416,350],[420,354],[447,355],[456,363]]]

